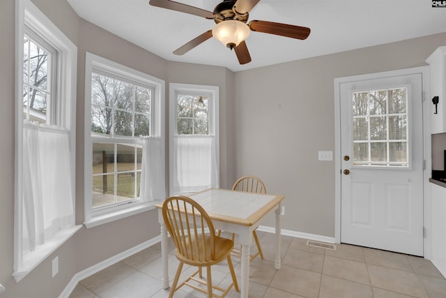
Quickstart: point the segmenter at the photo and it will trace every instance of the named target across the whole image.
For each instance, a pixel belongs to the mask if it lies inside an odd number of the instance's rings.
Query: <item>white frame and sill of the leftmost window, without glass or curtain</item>
[[[70,131],[70,168],[72,195],[75,198],[75,112],[76,112],[76,78],[77,78],[77,47],[57,28],[30,0],[17,0],[15,6],[15,152],[23,151],[23,38],[24,33],[31,29],[43,38],[57,51],[57,66],[55,82],[56,87],[52,102],[53,110],[48,116],[58,126]],[[54,101],[57,104],[54,108]],[[48,121],[48,120],[47,120]],[[51,121],[50,121],[51,122]],[[51,253],[53,253],[72,234],[82,228],[75,225],[72,228],[61,230],[54,237],[47,239],[35,251],[22,255],[22,226],[23,226],[23,160],[22,154],[15,154],[15,213],[14,213],[14,272],[15,281],[20,281],[26,274],[36,268]],[[75,210],[75,200],[72,202]]]

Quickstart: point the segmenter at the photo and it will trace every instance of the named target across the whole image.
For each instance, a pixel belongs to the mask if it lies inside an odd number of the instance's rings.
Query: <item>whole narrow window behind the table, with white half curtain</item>
[[[170,84],[170,192],[219,186],[218,87]]]

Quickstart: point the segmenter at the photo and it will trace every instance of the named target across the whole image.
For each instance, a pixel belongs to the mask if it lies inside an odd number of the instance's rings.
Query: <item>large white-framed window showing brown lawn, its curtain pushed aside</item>
[[[87,53],[87,227],[164,200],[163,86],[162,80]]]

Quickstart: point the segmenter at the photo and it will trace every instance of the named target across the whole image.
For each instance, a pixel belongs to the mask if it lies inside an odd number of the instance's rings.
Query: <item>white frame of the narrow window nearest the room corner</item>
[[[193,94],[193,95],[203,95],[209,97],[209,133],[208,135],[214,137],[215,139],[215,156],[217,159],[216,172],[217,181],[216,186],[220,186],[220,120],[219,120],[219,87],[208,86],[208,85],[198,85],[198,84],[179,84],[170,83],[169,84],[169,193],[170,195],[187,193],[177,193],[175,191],[175,180],[176,180],[176,168],[175,168],[175,156],[176,148],[174,146],[174,138],[178,137],[177,133],[177,107],[178,107],[178,94]]]

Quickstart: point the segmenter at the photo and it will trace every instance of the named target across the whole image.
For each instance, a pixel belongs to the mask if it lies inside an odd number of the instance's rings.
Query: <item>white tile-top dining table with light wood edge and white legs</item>
[[[239,235],[242,246],[240,297],[247,298],[249,292],[249,248],[252,231],[259,227],[263,218],[275,213],[275,269],[280,269],[280,222],[281,203],[284,195],[246,193],[226,189],[210,188],[206,191],[188,195],[203,207],[218,230],[234,232]],[[169,288],[168,238],[167,228],[162,218],[162,203],[158,209],[158,221],[161,225],[162,284]]]

